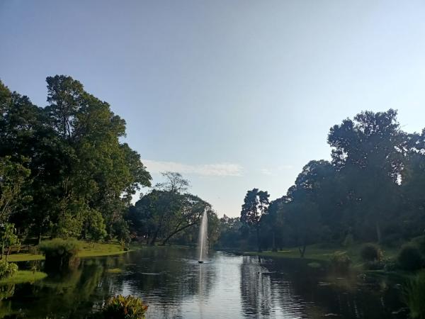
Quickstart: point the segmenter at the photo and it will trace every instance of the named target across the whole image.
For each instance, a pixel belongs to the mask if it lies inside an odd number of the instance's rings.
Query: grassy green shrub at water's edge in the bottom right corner
[[[411,318],[425,318],[425,271],[420,272],[404,289],[404,302],[410,310]]]

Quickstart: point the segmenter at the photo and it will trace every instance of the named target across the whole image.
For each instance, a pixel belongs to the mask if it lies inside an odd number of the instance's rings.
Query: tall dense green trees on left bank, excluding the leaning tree
[[[21,239],[128,240],[125,213],[151,177],[120,142],[125,121],[63,75],[47,77],[47,103],[0,82],[0,224]]]

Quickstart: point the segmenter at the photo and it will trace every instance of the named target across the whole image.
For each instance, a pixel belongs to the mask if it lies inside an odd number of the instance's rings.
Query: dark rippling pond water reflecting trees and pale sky
[[[193,251],[175,248],[81,259],[67,274],[3,286],[0,318],[84,318],[118,293],[140,296],[147,318],[407,318],[399,289],[382,280],[225,252],[198,264]]]

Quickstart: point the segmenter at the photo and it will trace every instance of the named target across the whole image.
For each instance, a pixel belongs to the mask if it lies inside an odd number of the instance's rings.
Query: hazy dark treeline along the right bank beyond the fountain
[[[406,133],[397,112],[365,111],[334,125],[331,161],[312,160],[281,198],[253,189],[240,218],[220,219],[220,247],[258,250],[314,243],[398,246],[424,234],[425,130]]]

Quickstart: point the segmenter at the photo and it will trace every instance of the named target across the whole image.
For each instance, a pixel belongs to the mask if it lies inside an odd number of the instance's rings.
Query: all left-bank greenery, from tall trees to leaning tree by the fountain
[[[188,193],[188,181],[176,172],[164,172],[164,183],[130,206],[152,178],[122,142],[123,118],[72,77],[46,82],[45,107],[0,82],[2,260],[42,259],[40,250],[52,252],[45,240],[54,238],[92,246],[77,257],[127,251],[132,240],[194,245],[205,209],[218,229],[210,204]],[[217,235],[211,232],[212,242]],[[111,244],[117,241],[119,249]]]

